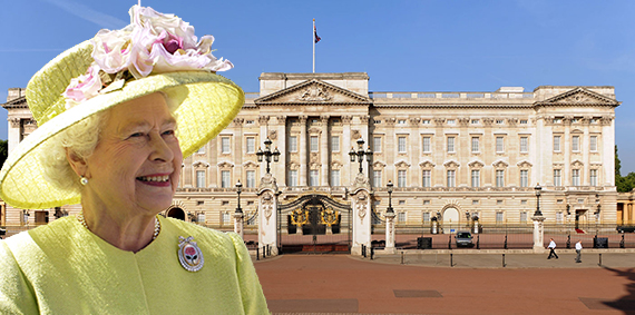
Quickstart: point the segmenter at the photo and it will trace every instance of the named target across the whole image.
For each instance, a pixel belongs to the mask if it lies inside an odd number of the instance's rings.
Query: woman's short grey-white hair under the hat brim
[[[164,96],[168,110],[176,118],[178,104],[165,92],[159,91],[159,93]],[[89,158],[95,151],[97,144],[99,144],[101,130],[106,126],[113,108],[80,120],[41,145],[40,164],[43,168],[45,179],[48,183],[63,190],[80,191],[79,176],[68,163],[67,150],[82,160]]]

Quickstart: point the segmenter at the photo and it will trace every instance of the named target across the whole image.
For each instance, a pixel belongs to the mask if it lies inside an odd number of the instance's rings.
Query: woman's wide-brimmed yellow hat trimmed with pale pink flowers
[[[78,204],[78,191],[48,183],[41,146],[78,121],[118,104],[157,91],[176,104],[178,139],[185,157],[223,130],[241,110],[243,90],[216,71],[228,60],[211,53],[214,40],[197,41],[194,28],[172,14],[134,6],[131,23],[101,30],[48,62],[27,86],[38,129],[11,151],[0,171],[0,197],[26,209]]]

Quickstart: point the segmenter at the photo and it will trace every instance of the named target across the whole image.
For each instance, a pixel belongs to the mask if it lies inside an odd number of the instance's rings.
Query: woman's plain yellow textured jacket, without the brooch
[[[66,217],[0,240],[0,314],[268,314],[243,240],[160,217],[158,237],[125,252]],[[193,236],[205,264],[178,262]]]

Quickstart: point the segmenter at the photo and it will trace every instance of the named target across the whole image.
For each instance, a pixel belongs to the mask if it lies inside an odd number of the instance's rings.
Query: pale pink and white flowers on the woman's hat
[[[194,27],[180,18],[139,6],[134,6],[129,13],[130,24],[126,28],[97,32],[92,39],[91,56],[95,63],[86,75],[71,80],[63,93],[67,107],[95,97],[99,91],[120,88],[129,77],[116,76],[117,79],[113,82],[117,82],[117,87],[102,90],[111,82],[99,79],[100,70],[109,75],[128,71],[135,79],[139,79],[150,73],[225,71],[234,68],[229,60],[217,59],[212,55],[213,36],[204,36],[198,41]]]

